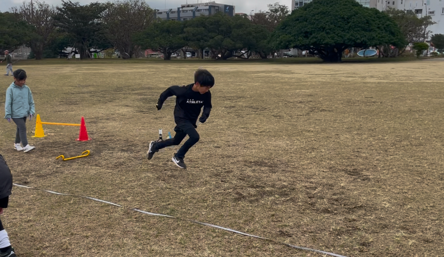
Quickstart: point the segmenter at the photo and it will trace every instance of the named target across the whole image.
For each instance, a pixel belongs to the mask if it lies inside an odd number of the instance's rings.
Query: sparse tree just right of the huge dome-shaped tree
[[[411,10],[399,10],[389,7],[383,13],[390,16],[396,22],[407,43],[424,42],[431,32],[428,30],[428,27],[436,23],[432,21],[431,16],[418,18]],[[405,45],[393,47],[390,44],[382,44],[378,46],[378,49],[383,57],[396,57],[404,52]]]

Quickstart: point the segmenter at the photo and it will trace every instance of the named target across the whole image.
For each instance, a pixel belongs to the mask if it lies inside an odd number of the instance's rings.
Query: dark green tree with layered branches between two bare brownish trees
[[[92,2],[80,5],[79,2],[62,0],[54,16],[61,32],[70,37],[73,47],[78,49],[80,58],[89,57],[91,52],[100,52],[111,47],[105,24],[102,22],[110,3]],[[95,48],[95,51],[91,51]]]

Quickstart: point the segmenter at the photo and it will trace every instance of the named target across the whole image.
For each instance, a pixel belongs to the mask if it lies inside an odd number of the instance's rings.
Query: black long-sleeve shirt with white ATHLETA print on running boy
[[[176,96],[176,107],[174,107],[174,120],[177,125],[190,122],[196,127],[196,122],[199,118],[200,110],[203,107],[202,116],[199,121],[204,123],[210,116],[211,108],[211,93],[210,91],[200,94],[200,92],[193,91],[194,84],[188,86],[170,86],[159,97],[157,105],[162,107],[163,102],[170,97]]]

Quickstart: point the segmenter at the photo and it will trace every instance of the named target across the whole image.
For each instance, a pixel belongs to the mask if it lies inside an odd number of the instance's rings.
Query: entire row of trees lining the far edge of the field
[[[37,0],[0,13],[0,50],[24,43],[36,59],[42,59],[63,53],[67,46],[81,58],[116,48],[122,58],[132,58],[151,48],[168,60],[187,48],[207,48],[217,59],[240,51],[245,52],[241,58],[253,52],[266,58],[278,49],[298,48],[338,62],[350,47],[373,46],[383,57],[396,57],[409,43],[424,42],[430,33],[427,27],[433,24],[430,16],[418,18],[395,9],[379,12],[355,0],[313,0],[291,14],[279,2],[268,8],[253,15],[216,13],[189,21],[161,21],[155,20],[154,10],[143,0],[87,5],[63,0],[57,7]]]

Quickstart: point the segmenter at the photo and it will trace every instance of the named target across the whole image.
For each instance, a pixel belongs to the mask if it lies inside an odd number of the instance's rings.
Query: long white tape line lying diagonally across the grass
[[[102,202],[102,203],[106,203],[106,204],[111,204],[111,205],[114,205],[114,206],[117,206],[117,207],[121,207],[121,208],[125,208],[125,209],[128,209],[128,210],[133,210],[133,211],[136,211],[136,212],[139,212],[139,213],[143,213],[143,214],[149,214],[149,215],[153,215],[153,216],[162,216],[162,217],[186,220],[186,221],[197,223],[197,224],[200,224],[200,225],[203,225],[203,226],[208,226],[208,227],[213,227],[213,228],[217,228],[217,229],[222,229],[222,230],[233,232],[233,233],[236,233],[236,234],[239,234],[239,235],[243,235],[243,236],[250,236],[250,237],[254,237],[254,238],[264,239],[264,240],[267,240],[267,241],[283,244],[283,245],[289,246],[291,248],[299,249],[299,250],[310,251],[310,252],[315,252],[315,253],[318,253],[318,254],[330,255],[330,256],[335,256],[335,257],[346,257],[346,256],[343,256],[343,255],[337,255],[337,254],[333,254],[333,253],[329,253],[329,252],[324,252],[324,251],[320,251],[320,250],[316,250],[316,249],[311,249],[311,248],[306,248],[306,247],[301,247],[301,246],[287,244],[287,243],[283,243],[283,242],[276,241],[276,240],[273,240],[273,239],[268,239],[266,237],[254,236],[254,235],[246,234],[246,233],[243,233],[243,232],[240,232],[240,231],[237,231],[237,230],[228,229],[228,228],[224,228],[224,227],[220,227],[220,226],[216,226],[216,225],[213,225],[213,224],[208,224],[208,223],[204,223],[204,222],[200,222],[200,221],[196,221],[196,220],[183,219],[183,218],[178,218],[178,217],[169,216],[169,215],[165,215],[165,214],[149,213],[149,212],[141,211],[141,210],[138,210],[138,209],[135,209],[135,208],[124,207],[122,205],[118,205],[118,204],[115,204],[115,203],[107,202],[107,201],[104,201],[104,200],[100,200],[100,199],[96,199],[96,198],[92,198],[92,197],[88,197],[88,196],[77,195],[77,194],[57,193],[57,192],[53,192],[53,191],[49,191],[49,190],[30,188],[30,187],[22,186],[22,185],[18,185],[18,184],[13,184],[13,185],[16,186],[16,187],[27,188],[27,189],[37,190],[37,191],[44,191],[44,192],[47,192],[47,193],[53,193],[53,194],[58,194],[58,195],[83,197],[83,198],[87,198],[87,199],[90,199],[90,200],[93,200],[93,201]]]

